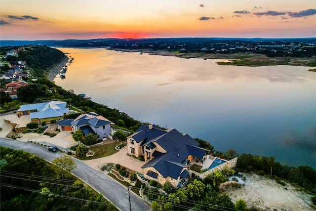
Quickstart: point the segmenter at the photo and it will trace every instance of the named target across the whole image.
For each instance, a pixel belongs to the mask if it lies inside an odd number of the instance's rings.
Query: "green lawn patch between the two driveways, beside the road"
[[[118,146],[119,144],[121,143],[114,142],[110,144],[102,144],[102,145],[93,146],[90,148],[90,150],[94,152],[94,156],[91,156],[91,157],[84,156],[84,157],[77,157],[77,158],[79,160],[92,160],[96,158],[107,157],[118,152],[118,150],[116,150],[115,147]]]

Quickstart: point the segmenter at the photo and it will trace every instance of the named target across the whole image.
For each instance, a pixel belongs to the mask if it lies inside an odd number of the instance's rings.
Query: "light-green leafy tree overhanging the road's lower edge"
[[[57,174],[57,178],[59,178],[60,175],[62,178],[64,177],[64,170],[70,172],[71,170],[77,168],[77,164],[74,162],[74,160],[67,155],[58,157],[51,163],[54,164],[53,169]]]

